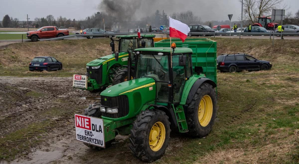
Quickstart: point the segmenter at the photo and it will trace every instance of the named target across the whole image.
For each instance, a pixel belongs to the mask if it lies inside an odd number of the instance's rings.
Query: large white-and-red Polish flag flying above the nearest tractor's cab
[[[169,17],[169,36],[180,38],[183,42],[187,38],[190,28],[178,20]]]

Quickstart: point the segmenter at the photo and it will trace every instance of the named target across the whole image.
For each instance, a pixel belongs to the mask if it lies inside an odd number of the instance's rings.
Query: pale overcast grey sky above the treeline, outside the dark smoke
[[[164,10],[168,15],[173,12],[192,10],[196,16],[203,21],[208,20],[227,20],[228,14],[233,14],[232,20],[237,20],[241,15],[241,5],[238,0],[150,0],[152,6],[143,5],[136,14],[152,14],[156,9]],[[8,14],[10,17],[19,18],[21,21],[26,20],[28,14],[30,20],[35,17],[46,17],[52,14],[55,19],[59,16],[66,18],[75,18],[76,20],[84,19],[87,16],[99,11],[98,4],[101,0],[9,0],[1,2],[0,17]],[[290,5],[293,14],[299,10],[299,0],[285,0]],[[141,11],[142,10],[142,11]],[[154,11],[152,11],[154,10]]]

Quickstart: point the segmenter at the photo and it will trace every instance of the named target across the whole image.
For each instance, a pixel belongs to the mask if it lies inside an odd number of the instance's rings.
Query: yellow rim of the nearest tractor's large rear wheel
[[[213,114],[213,102],[209,95],[205,95],[200,100],[198,106],[198,121],[201,126],[205,127],[210,123]]]

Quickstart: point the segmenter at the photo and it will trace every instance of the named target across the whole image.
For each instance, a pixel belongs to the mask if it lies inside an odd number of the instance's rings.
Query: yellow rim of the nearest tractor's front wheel
[[[152,151],[158,151],[164,144],[165,140],[165,126],[161,122],[156,122],[149,132],[149,147]]]

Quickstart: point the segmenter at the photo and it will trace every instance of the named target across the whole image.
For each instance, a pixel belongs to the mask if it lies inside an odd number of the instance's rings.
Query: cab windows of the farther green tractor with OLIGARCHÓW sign
[[[145,47],[142,47],[141,42],[145,41]],[[120,51],[127,51],[129,49],[130,52],[133,52],[137,47],[138,39],[120,39]],[[152,39],[144,38],[139,39],[139,47],[147,48],[153,47]]]

